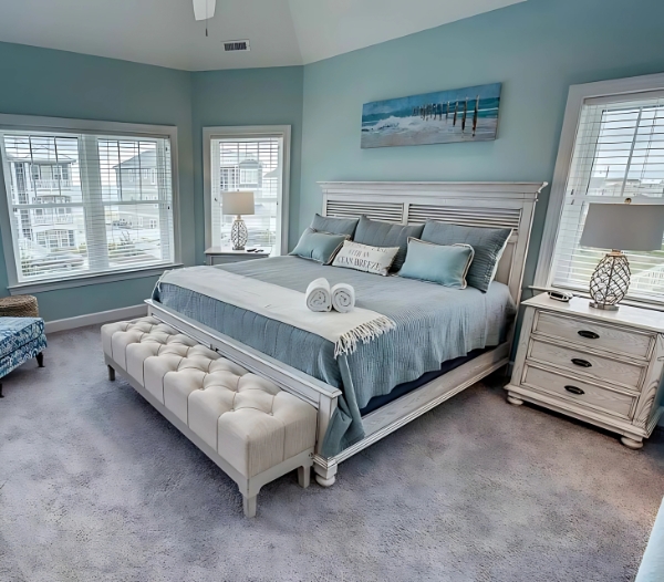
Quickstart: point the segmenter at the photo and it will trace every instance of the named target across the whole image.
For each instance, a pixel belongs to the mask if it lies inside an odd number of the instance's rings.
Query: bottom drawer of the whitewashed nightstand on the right
[[[523,385],[625,418],[636,398],[526,364]]]

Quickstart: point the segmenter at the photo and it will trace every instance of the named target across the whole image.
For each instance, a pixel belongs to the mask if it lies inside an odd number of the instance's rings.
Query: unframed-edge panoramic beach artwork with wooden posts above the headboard
[[[496,139],[501,83],[365,103],[362,147]]]

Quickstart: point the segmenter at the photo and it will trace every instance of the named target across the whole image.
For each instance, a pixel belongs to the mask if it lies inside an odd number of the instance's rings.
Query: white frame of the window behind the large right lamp
[[[553,254],[556,252],[556,242],[558,239],[560,220],[562,218],[562,209],[567,194],[568,177],[572,164],[572,155],[574,153],[579,121],[584,102],[590,98],[612,97],[618,101],[630,94],[636,95],[639,93],[662,90],[664,90],[664,73],[627,79],[614,79],[570,86],[562,131],[560,134],[560,143],[558,146],[558,157],[556,158],[556,169],[553,172],[551,190],[549,193],[549,204],[547,207],[535,281],[530,289],[536,291],[557,289],[551,284],[553,277],[551,269],[553,267]],[[578,294],[590,297],[588,292]],[[623,303],[664,309],[664,299],[658,302],[629,298],[625,299]]]

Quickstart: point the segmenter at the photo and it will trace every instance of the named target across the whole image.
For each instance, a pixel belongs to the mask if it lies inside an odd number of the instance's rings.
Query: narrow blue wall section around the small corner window
[[[196,259],[204,260],[203,128],[219,125],[291,125],[290,231],[298,240],[302,66],[193,73],[193,124],[196,197]],[[294,237],[294,238],[293,238]]]

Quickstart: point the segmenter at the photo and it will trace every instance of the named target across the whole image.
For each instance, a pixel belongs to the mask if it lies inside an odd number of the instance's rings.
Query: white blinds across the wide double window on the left
[[[0,156],[19,283],[174,262],[169,137],[0,129]]]

